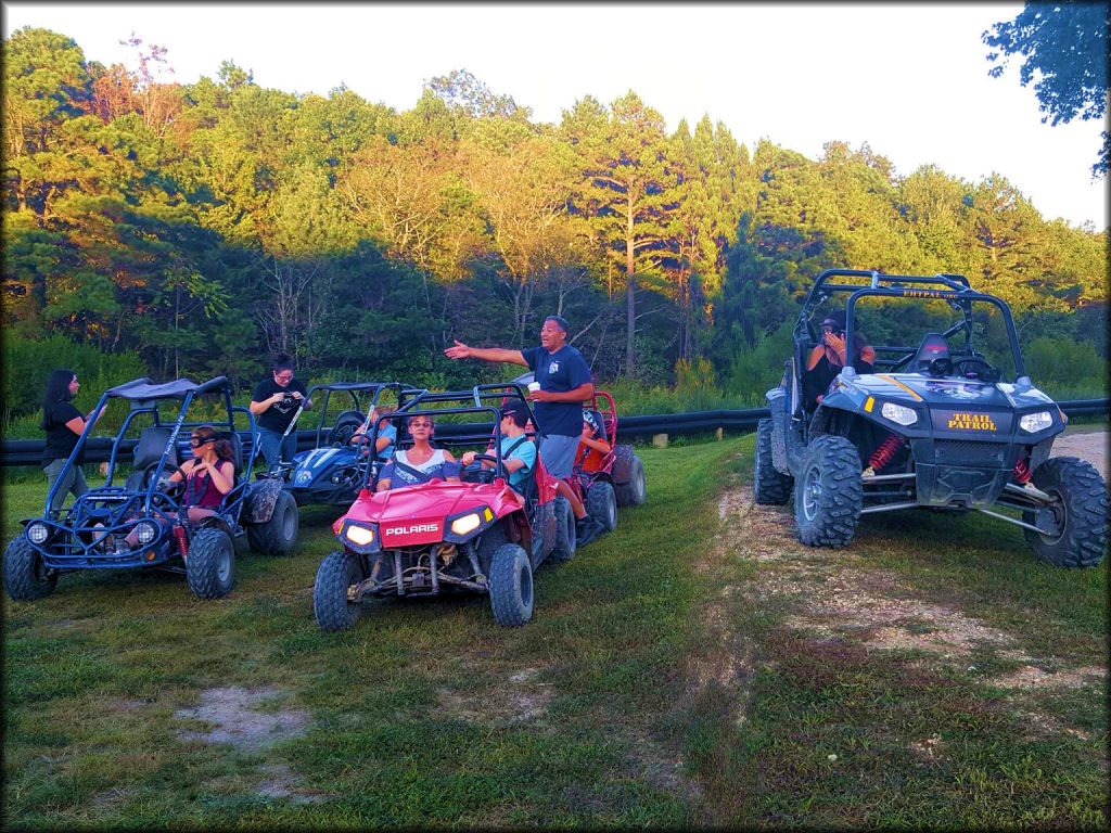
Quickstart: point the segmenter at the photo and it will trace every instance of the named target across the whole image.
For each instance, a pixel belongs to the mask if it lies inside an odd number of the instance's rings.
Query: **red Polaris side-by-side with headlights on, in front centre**
[[[539,456],[522,492],[509,486],[500,451],[499,408],[506,395],[504,384],[423,393],[393,414],[400,449],[411,439],[399,414],[488,418],[454,424],[450,432],[453,446],[483,453],[462,469],[458,483],[433,479],[374,492],[378,472],[368,471],[354,503],[332,525],[342,549],[326,555],[317,571],[312,608],[321,629],[351,628],[371,596],[448,592],[488,593],[494,621],[507,628],[532,618],[533,570],[546,559],[561,563],[574,554],[574,515],[557,496],[557,481]],[[524,401],[519,387],[509,398]],[[371,429],[371,445],[380,422]],[[488,454],[491,434],[493,453]],[[483,469],[479,460],[494,468]]]

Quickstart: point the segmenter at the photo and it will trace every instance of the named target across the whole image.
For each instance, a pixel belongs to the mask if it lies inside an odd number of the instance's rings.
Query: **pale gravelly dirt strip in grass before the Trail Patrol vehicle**
[[[1054,446],[1054,451],[1091,460],[1092,449],[1087,446],[1098,443],[1102,451],[1105,434],[1078,434],[1071,439],[1085,441],[1082,454],[1068,445],[1060,450]],[[1017,671],[988,679],[992,685],[1019,690],[1107,684],[1105,666],[1048,671],[1057,664],[1054,658],[1030,656],[1014,636],[967,615],[955,603],[918,598],[915,589],[897,573],[863,566],[851,548],[803,546],[794,536],[790,508],[755,504],[750,485],[724,494],[719,516],[723,531],[717,556],[732,554],[758,564],[740,592],[764,609],[782,610],[782,621],[791,631],[823,650],[845,641],[864,652],[913,650],[923,655],[913,663],[923,672],[930,672],[939,661],[968,661],[988,650],[1000,660],[1024,663]],[[700,569],[709,570],[711,564]],[[732,674],[751,663],[751,650],[739,649],[738,640],[723,630],[728,609],[722,609],[722,603],[733,592],[727,586],[722,599],[710,604],[708,643],[718,649],[692,658],[692,676],[700,685],[711,679],[728,684]],[[971,662],[968,670],[974,671]],[[940,754],[938,743],[930,740],[922,739],[912,749],[928,759]]]

